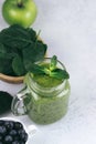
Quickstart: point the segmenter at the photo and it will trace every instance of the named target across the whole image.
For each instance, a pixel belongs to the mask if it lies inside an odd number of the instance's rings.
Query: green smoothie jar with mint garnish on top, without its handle
[[[32,121],[50,124],[66,114],[71,92],[68,78],[56,56],[46,58],[32,66],[24,79],[26,93],[23,97],[26,114]]]

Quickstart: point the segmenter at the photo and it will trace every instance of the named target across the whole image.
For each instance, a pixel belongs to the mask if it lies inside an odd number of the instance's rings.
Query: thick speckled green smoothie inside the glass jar
[[[54,92],[49,93],[49,95],[46,95],[46,93],[42,95],[41,92],[31,92],[31,94],[29,94],[24,101],[29,116],[34,122],[40,124],[53,123],[63,117],[67,112],[68,105],[68,81],[65,81],[64,88],[62,88],[61,92],[57,95],[55,95],[55,91],[57,91],[56,86],[61,85],[64,80],[57,80],[47,75],[35,74],[33,76],[33,81],[43,88],[54,88]]]

